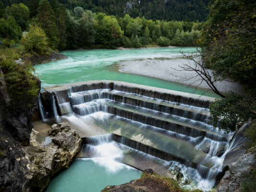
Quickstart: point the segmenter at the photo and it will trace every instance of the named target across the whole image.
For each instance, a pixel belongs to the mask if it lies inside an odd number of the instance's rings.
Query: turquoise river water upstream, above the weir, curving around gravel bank
[[[188,87],[185,84],[118,72],[115,66],[116,63],[125,60],[154,58],[177,60],[182,56],[181,49],[184,53],[195,52],[195,48],[68,50],[61,53],[69,58],[37,65],[35,68],[42,81],[42,87],[90,80],[115,80],[202,95],[205,89],[195,90],[194,87]],[[217,96],[213,92],[207,92],[204,95]]]

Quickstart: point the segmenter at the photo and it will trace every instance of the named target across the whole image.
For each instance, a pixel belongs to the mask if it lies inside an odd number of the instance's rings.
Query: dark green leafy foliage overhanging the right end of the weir
[[[210,105],[211,122],[225,132],[239,129],[249,118],[256,119],[256,98],[254,91],[244,96],[229,93]]]

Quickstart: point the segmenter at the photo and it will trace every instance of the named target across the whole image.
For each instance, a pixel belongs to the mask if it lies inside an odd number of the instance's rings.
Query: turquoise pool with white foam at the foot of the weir
[[[46,192],[100,192],[107,185],[120,185],[141,177],[141,171],[104,158],[75,159],[50,181]]]

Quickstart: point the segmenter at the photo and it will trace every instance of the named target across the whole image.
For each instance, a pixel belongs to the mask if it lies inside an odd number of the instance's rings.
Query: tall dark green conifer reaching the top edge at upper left
[[[50,48],[56,49],[59,46],[60,38],[56,18],[48,0],[41,0],[37,9],[37,19],[40,26],[45,30],[49,38]]]

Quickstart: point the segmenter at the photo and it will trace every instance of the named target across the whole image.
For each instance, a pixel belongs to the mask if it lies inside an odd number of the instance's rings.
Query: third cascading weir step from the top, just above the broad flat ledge
[[[97,100],[96,100],[97,101]],[[90,103],[90,104],[89,104]],[[90,107],[89,107],[90,106]],[[193,126],[189,123],[183,123],[177,120],[173,120],[171,115],[166,113],[146,109],[146,108],[138,108],[136,106],[123,104],[120,102],[112,101],[112,100],[99,100],[98,105],[97,102],[88,102],[73,106],[73,111],[78,115],[88,115],[90,113],[104,111],[113,115],[117,115],[126,119],[138,121],[141,123],[145,123],[151,126],[156,126],[161,129],[165,129],[172,132],[177,132],[186,136],[191,137],[199,137],[206,136],[207,138],[213,139],[215,141],[228,141],[229,135],[219,135],[218,130],[213,129],[205,129],[203,126],[208,127],[209,125],[205,123],[199,123],[199,125],[203,125],[201,127]],[[176,119],[179,117],[175,116]],[[183,118],[184,119],[184,118]],[[185,119],[188,120],[189,119]],[[198,122],[195,121],[198,124]]]

